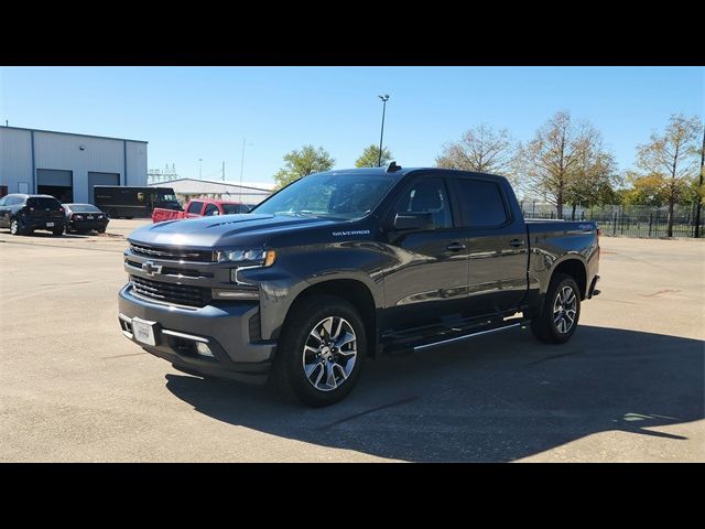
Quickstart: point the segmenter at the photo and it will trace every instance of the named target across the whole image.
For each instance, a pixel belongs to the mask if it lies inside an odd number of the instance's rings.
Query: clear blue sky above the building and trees
[[[589,119],[621,170],[671,114],[703,119],[702,67],[2,67],[11,126],[148,140],[149,166],[181,176],[271,181],[282,155],[325,147],[352,166],[379,141],[401,165],[432,165],[442,145],[487,122],[518,140],[557,110]],[[217,173],[217,174],[215,174]]]

